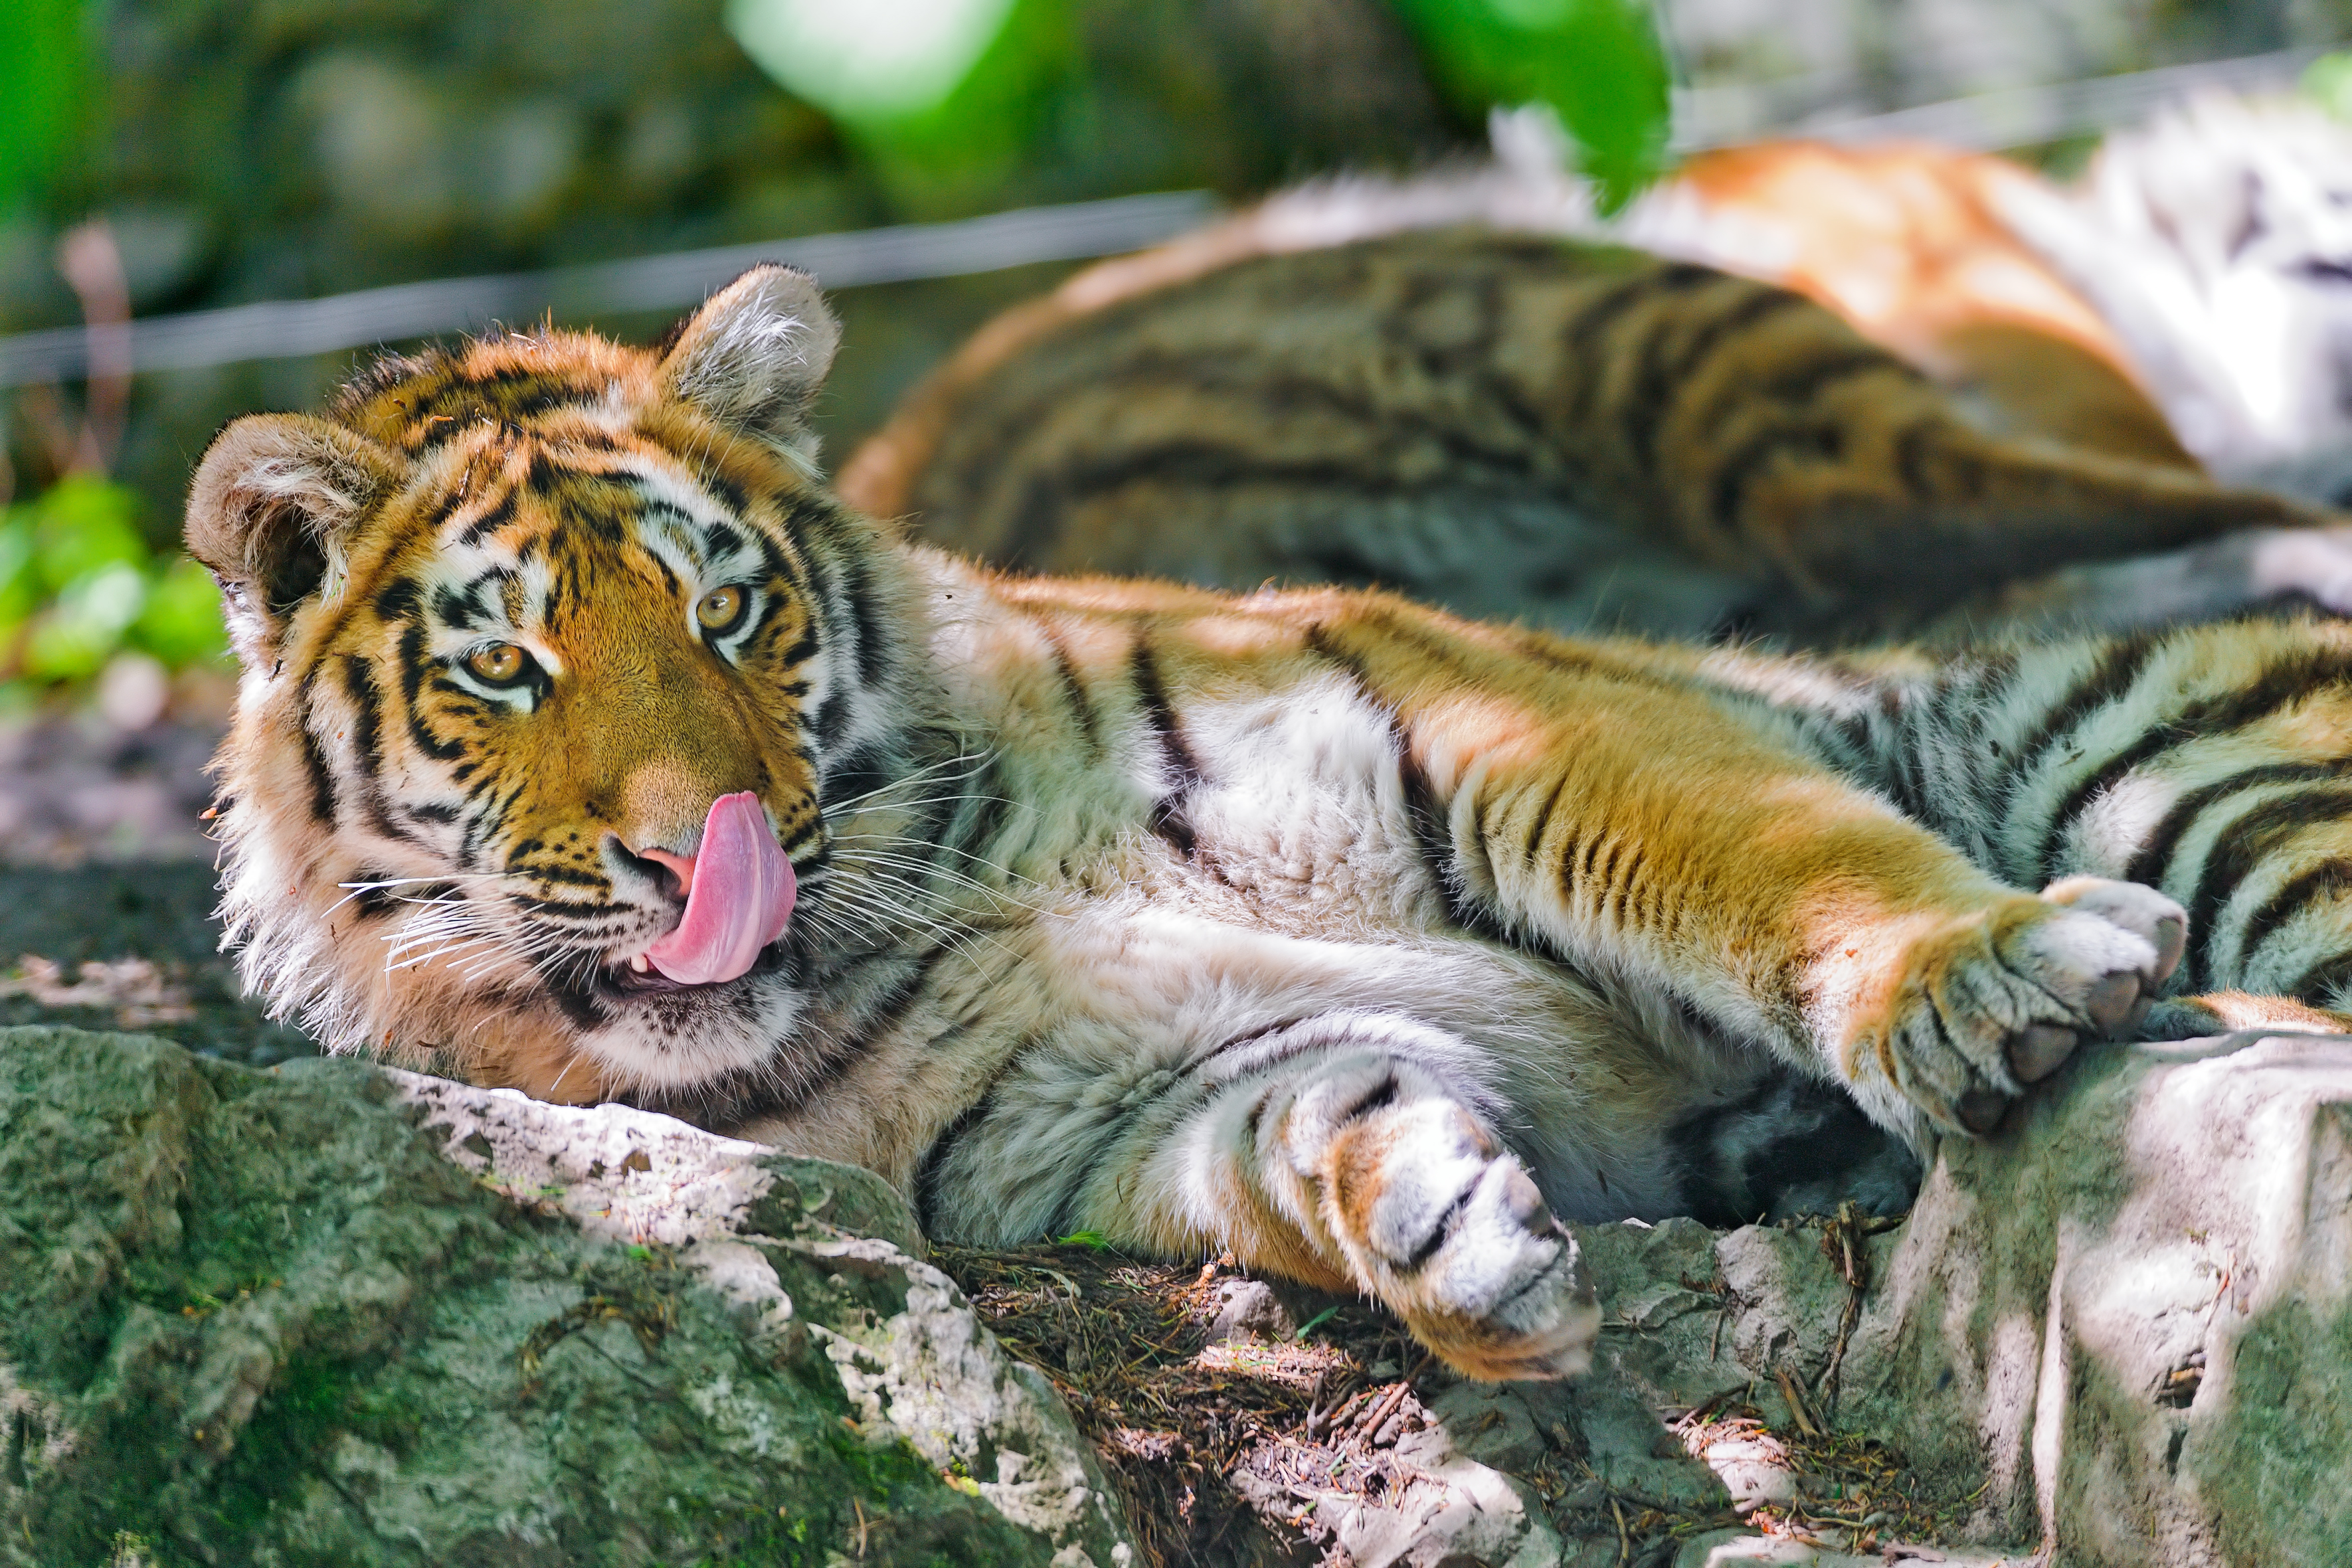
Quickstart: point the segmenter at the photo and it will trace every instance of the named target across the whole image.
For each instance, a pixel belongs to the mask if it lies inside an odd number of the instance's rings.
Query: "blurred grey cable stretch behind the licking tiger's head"
[[[54,327],[0,339],[0,386],[82,376],[94,346],[99,357],[120,364],[122,336],[129,339],[134,371],[292,360],[445,331],[480,331],[492,322],[539,320],[550,310],[567,320],[677,310],[701,303],[710,289],[760,261],[786,261],[807,268],[828,289],[849,289],[870,282],[993,273],[1030,261],[1112,256],[1197,228],[1214,212],[1216,197],[1207,190],[1122,195],[1105,202],[1023,207],[955,223],[903,223],[724,244],[543,273],[440,277],[322,299],[275,299],[223,310],[155,315],[96,329]]]

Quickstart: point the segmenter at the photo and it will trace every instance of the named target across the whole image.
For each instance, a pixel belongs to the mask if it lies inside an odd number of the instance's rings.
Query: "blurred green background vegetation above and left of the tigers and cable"
[[[1143,190],[1240,202],[1465,153],[1524,101],[1621,200],[1677,122],[1719,141],[2347,21],[2352,0],[7,0],[0,334]],[[1070,266],[847,292],[828,451]],[[0,393],[0,705],[216,670],[209,583],[176,555],[188,465],[358,357]]]

